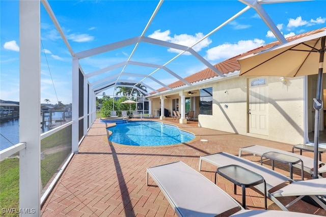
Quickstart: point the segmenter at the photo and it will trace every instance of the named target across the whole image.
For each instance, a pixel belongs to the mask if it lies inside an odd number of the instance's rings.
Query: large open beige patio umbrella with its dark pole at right
[[[321,88],[326,30],[238,59],[240,76],[295,77],[318,74],[314,98],[314,174],[318,178],[319,116],[322,109]]]

